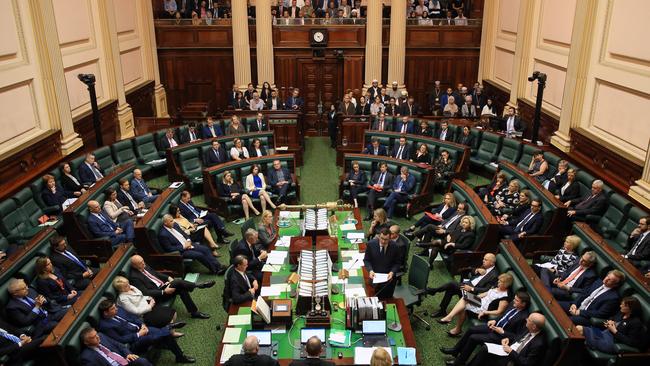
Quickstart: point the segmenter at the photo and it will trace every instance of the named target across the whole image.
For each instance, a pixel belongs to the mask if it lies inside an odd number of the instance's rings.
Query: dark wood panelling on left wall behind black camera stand
[[[102,126],[104,145],[111,145],[117,141],[117,101],[114,100],[99,110],[99,121]],[[79,134],[84,143],[84,151],[95,150],[95,128],[93,126],[92,112],[74,122],[74,131]]]

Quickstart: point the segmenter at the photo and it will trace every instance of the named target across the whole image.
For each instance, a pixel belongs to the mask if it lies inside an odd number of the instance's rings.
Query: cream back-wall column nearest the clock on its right
[[[379,80],[379,84],[381,84],[381,35],[381,1],[369,1],[366,14],[366,80],[364,88],[369,88],[373,80]],[[391,79],[389,78],[389,80]]]

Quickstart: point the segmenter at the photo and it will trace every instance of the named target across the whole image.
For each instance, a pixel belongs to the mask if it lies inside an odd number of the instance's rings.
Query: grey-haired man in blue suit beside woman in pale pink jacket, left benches
[[[86,223],[96,238],[108,236],[113,247],[122,243],[133,243],[135,238],[133,221],[114,222],[95,200],[88,201],[88,211],[90,213]]]

